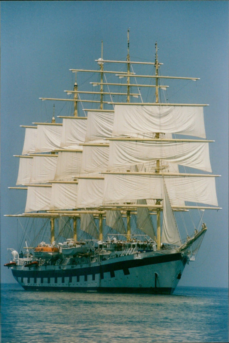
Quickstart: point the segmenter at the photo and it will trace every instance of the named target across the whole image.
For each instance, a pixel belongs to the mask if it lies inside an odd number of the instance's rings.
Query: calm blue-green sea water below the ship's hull
[[[2,343],[228,342],[228,289],[28,292],[1,284]]]

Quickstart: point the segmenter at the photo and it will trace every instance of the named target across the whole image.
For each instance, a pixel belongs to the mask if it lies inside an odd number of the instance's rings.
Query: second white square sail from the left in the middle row
[[[43,184],[54,179],[58,155],[33,156],[30,183]]]

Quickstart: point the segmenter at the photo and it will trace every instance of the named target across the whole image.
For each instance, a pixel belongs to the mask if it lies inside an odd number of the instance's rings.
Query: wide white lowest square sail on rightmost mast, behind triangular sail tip
[[[218,206],[215,177],[163,177],[171,200]],[[129,202],[132,199],[163,199],[163,177],[147,174],[105,174],[103,203]]]

